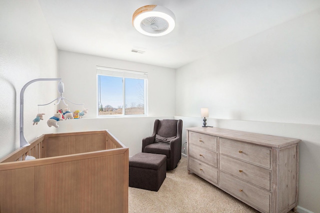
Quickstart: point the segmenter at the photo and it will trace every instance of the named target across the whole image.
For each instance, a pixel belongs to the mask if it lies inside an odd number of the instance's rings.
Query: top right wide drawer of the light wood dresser
[[[271,168],[271,148],[230,139],[219,139],[220,153]]]

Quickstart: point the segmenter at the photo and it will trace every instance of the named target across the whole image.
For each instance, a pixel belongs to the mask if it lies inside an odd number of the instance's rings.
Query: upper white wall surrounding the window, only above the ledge
[[[96,117],[97,113],[97,65],[148,72],[148,115],[175,115],[175,69],[60,50],[63,95],[73,102],[85,103],[89,108],[86,117]]]

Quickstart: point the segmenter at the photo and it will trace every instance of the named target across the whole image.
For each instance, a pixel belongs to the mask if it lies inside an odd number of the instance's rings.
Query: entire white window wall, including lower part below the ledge
[[[148,117],[96,118],[96,66],[148,72]],[[82,119],[59,121],[58,132],[108,129],[124,145],[129,155],[141,152],[142,138],[151,135],[154,119],[175,114],[175,69],[59,51],[59,77],[64,82],[63,96],[89,108]],[[69,103],[68,103],[69,104]],[[69,104],[74,111],[78,106]]]

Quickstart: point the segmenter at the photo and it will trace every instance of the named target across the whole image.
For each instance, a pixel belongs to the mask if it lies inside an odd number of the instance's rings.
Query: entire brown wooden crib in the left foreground
[[[0,159],[0,212],[127,212],[128,152],[107,130],[43,134]]]

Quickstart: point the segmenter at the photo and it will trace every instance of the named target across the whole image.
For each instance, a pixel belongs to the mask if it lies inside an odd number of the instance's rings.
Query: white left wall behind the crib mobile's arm
[[[57,49],[37,0],[0,1],[0,157],[15,150],[19,140],[22,86],[34,78],[54,78]],[[44,89],[45,88],[45,89]],[[54,89],[51,89],[54,88]],[[36,82],[24,93],[24,132],[27,140],[52,131],[32,126],[37,104],[56,95],[56,84]],[[46,109],[43,108],[43,112]],[[45,122],[45,121],[40,121]]]

